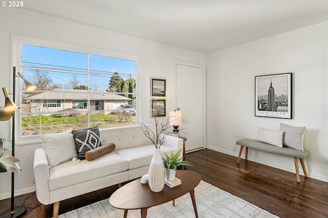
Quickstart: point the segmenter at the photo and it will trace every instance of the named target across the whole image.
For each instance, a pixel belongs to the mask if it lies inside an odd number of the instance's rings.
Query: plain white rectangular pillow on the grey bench
[[[282,131],[269,130],[259,127],[257,141],[265,142],[277,147],[282,147],[282,136]]]

